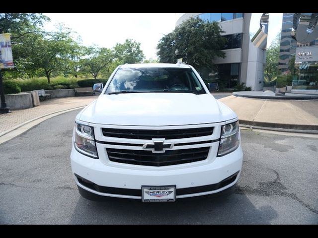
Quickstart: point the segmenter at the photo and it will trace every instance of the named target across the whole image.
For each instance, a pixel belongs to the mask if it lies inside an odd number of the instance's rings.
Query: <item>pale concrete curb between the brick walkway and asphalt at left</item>
[[[35,125],[37,125],[39,123],[41,123],[44,120],[53,118],[53,117],[61,115],[63,113],[67,113],[67,112],[71,112],[71,111],[74,111],[74,110],[77,110],[77,109],[80,109],[80,108],[84,108],[84,107],[86,107],[86,106],[80,106],[80,107],[69,108],[69,109],[65,109],[65,110],[61,110],[61,111],[55,111],[53,113],[48,113],[48,114],[42,115],[40,117],[24,121],[23,123],[18,124],[18,125],[10,128],[10,129],[0,133],[0,144],[4,143],[7,140],[10,140],[10,139],[14,138],[17,135],[20,135],[21,133],[27,131],[28,129],[32,128],[33,126],[35,126]],[[38,121],[36,121],[36,120],[38,120]],[[32,125],[28,126],[28,124],[32,124]],[[23,128],[23,127],[25,127],[25,128]],[[18,130],[20,130],[20,131],[18,131]]]

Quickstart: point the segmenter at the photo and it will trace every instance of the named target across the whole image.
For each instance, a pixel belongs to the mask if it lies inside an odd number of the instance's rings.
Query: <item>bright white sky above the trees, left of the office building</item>
[[[84,46],[112,48],[127,38],[141,43],[146,59],[157,59],[159,39],[173,31],[175,13],[43,13],[51,18],[47,31],[61,22],[76,31]]]

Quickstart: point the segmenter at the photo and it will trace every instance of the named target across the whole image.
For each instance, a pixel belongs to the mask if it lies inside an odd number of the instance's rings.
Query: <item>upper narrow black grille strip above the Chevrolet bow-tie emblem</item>
[[[102,128],[104,136],[151,140],[154,138],[181,139],[212,135],[213,127],[189,128],[189,129],[170,129],[170,130],[137,130],[137,129],[114,129]]]

